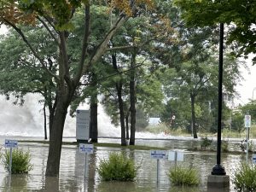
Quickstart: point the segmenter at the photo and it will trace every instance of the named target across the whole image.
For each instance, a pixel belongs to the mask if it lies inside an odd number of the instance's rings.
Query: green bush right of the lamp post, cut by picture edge
[[[241,163],[236,169],[232,181],[235,184],[236,191],[256,191],[256,166],[252,164]]]

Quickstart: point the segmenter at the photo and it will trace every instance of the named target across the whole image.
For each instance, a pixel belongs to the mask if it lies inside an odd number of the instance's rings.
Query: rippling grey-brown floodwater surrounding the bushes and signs
[[[20,138],[14,138],[20,139]],[[32,138],[26,138],[31,140]],[[118,140],[119,141],[119,140]],[[111,142],[110,139],[100,139],[100,142]],[[114,140],[113,142],[116,142]],[[0,137],[0,143],[4,138]],[[148,146],[167,147],[170,149],[190,148],[195,145],[191,141],[180,142],[178,140],[139,140],[137,144]],[[195,147],[195,146],[194,146]],[[125,153],[135,160],[140,166],[135,182],[102,182],[96,167],[101,159],[108,158],[109,152],[120,151],[120,148],[95,148],[94,154],[90,154],[88,176],[84,177],[85,154],[79,153],[75,145],[63,145],[61,152],[61,167],[59,177],[45,177],[45,167],[48,157],[48,145],[39,143],[19,143],[19,148],[30,150],[32,154],[33,170],[24,175],[12,175],[0,165],[0,189],[1,191],[44,191],[44,192],[198,192],[207,191],[207,175],[212,172],[216,163],[216,153],[201,153],[184,151],[184,161],[178,164],[193,166],[200,172],[201,184],[193,188],[175,188],[170,183],[166,172],[174,162],[160,160],[160,183],[156,182],[156,160],[150,159],[148,150],[125,149]],[[2,148],[2,151],[4,148]],[[222,165],[230,177],[234,174],[236,166],[245,159],[245,154],[223,154]],[[231,179],[230,179],[231,180]],[[230,191],[234,191],[230,181]]]

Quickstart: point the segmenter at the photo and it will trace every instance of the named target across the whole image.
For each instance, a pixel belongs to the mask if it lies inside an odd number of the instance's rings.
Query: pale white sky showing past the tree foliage
[[[0,34],[4,32],[7,32],[6,27],[0,26]],[[239,104],[245,105],[251,99],[256,99],[256,81],[254,81],[256,79],[256,66],[253,66],[252,58],[253,55],[249,55],[246,60],[248,70],[245,67],[241,67],[241,76],[244,80],[236,87],[236,91],[240,96],[235,97],[235,106]],[[253,91],[254,88],[255,90]]]

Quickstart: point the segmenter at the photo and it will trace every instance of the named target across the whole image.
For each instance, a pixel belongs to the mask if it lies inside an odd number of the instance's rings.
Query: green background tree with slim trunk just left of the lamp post
[[[172,7],[172,3],[169,5],[173,10],[169,17],[172,20],[172,27],[176,32],[178,41],[176,44],[166,46],[164,51],[161,51],[166,55],[160,55],[160,60],[168,63],[168,67],[171,68],[166,70],[166,73],[163,73],[163,83],[166,84],[169,98],[177,98],[177,100],[182,100],[185,103],[189,100],[191,131],[194,137],[197,137],[198,122],[196,122],[196,119],[198,117],[195,114],[196,108],[202,108],[203,104],[201,103],[213,101],[212,96],[216,96],[214,92],[216,92],[216,83],[218,82],[218,79],[216,79],[218,61],[216,60],[215,52],[218,44],[218,30],[216,26],[186,27],[179,16],[180,10]],[[239,74],[237,67],[239,62],[230,54],[226,58],[229,63],[226,65],[226,75],[224,75],[225,91],[231,95],[234,93],[236,85],[236,80],[234,79]],[[174,68],[175,73],[167,74],[173,71],[172,68]],[[168,86],[170,87],[169,89]],[[204,94],[205,96],[202,97],[203,92],[208,94]],[[204,101],[199,100],[199,102],[196,97],[203,98]],[[170,116],[171,114],[169,114],[169,119]]]

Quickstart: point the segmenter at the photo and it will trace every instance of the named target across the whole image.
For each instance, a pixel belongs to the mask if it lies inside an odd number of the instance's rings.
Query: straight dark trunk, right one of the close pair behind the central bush
[[[131,112],[130,145],[135,145],[135,131],[136,131],[135,64],[136,64],[136,54],[133,53],[131,58],[131,74],[130,74],[130,112]]]

